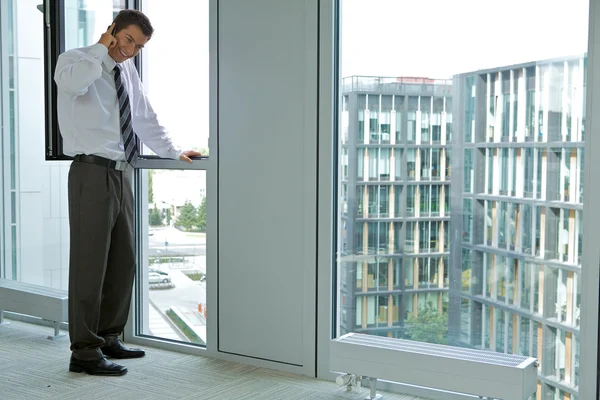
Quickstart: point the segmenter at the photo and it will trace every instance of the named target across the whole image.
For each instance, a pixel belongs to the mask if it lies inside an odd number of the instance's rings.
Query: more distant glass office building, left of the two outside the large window
[[[377,94],[350,90],[343,95],[350,126],[343,152],[357,155],[348,160],[348,170],[359,173],[347,179],[348,212],[342,218],[348,231],[342,246],[348,255],[366,257],[343,263],[346,284],[341,295],[348,306],[340,333],[417,337],[418,330],[411,325],[442,312],[440,331],[429,339],[447,340],[447,324],[442,322],[447,320],[449,288],[451,143],[447,138],[451,136],[447,122],[452,110],[446,107],[451,105],[452,86],[451,81],[421,83],[422,95],[402,82],[387,90],[382,85]],[[364,108],[367,105],[369,109]],[[387,139],[389,130],[395,132],[390,140],[361,140],[361,116],[385,118],[390,109],[395,118],[390,119],[389,129],[381,122],[375,128],[369,125],[371,138]],[[369,181],[377,181],[367,187],[361,184],[364,165],[369,166]],[[366,214],[364,204],[368,204]]]

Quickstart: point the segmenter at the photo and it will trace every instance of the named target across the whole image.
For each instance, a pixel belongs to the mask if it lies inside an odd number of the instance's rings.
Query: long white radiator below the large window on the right
[[[330,370],[503,400],[527,400],[537,360],[410,340],[349,333],[331,342]]]

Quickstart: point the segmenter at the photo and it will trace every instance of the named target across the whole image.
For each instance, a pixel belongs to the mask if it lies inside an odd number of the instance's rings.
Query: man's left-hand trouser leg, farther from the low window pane
[[[69,171],[69,336],[73,357],[83,361],[102,358],[102,283],[118,207],[113,172],[81,162]]]

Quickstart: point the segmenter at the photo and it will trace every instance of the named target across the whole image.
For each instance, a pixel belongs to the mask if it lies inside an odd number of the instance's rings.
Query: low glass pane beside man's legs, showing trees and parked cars
[[[148,241],[142,249],[141,280],[148,290],[148,314],[140,333],[204,345],[206,172],[144,173],[149,182],[148,219],[143,224]]]

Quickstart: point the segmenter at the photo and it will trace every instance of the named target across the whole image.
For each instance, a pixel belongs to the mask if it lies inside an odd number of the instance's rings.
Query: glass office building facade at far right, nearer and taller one
[[[457,222],[463,232],[470,232],[471,239],[463,240],[462,251],[451,255],[455,261],[451,265],[462,268],[451,268],[450,274],[467,274],[486,285],[477,296],[450,298],[457,307],[469,310],[450,317],[450,329],[460,326],[456,345],[536,357],[544,382],[557,381],[571,389],[578,381],[582,203],[577,194],[582,191],[584,74],[585,60],[576,57],[461,76],[457,81],[465,89],[473,82],[480,88],[477,93],[482,95],[474,98],[476,107],[490,99],[496,103],[500,95],[492,88],[501,87],[505,79],[516,81],[503,94],[512,101],[499,111],[502,118],[496,122],[517,119],[523,129],[517,124],[516,134],[507,144],[497,132],[489,140],[456,143],[464,154],[483,154],[485,149],[487,160],[481,156],[476,165],[497,166],[501,179],[485,182],[485,177],[476,175],[471,181],[465,167],[468,175],[463,177],[467,178],[463,187],[452,182],[454,193],[464,199],[464,217]],[[515,100],[518,88],[526,85],[538,88],[530,91],[530,98],[539,101],[547,96],[545,107],[536,105],[542,122],[534,132],[533,146],[526,129],[532,106]],[[460,112],[468,115],[471,111]],[[475,137],[480,137],[477,126]],[[493,176],[498,175],[491,172],[489,177]],[[470,192],[473,186],[475,190]],[[473,212],[472,204],[481,202],[488,210],[485,230],[473,227],[466,217]],[[477,268],[474,258],[485,260],[486,268]],[[550,385],[541,387],[544,393],[553,392]]]

